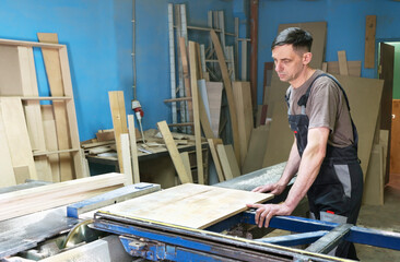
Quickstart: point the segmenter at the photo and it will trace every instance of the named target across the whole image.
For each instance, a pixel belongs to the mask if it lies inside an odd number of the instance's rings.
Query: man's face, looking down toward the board
[[[293,45],[275,46],[272,50],[275,71],[282,82],[293,82],[303,72],[308,62],[304,52],[294,50]]]

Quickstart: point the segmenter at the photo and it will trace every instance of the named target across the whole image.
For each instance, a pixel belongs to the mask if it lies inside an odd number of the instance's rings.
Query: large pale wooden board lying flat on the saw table
[[[186,183],[110,205],[101,212],[203,229],[246,211],[247,203],[269,199],[272,194]]]

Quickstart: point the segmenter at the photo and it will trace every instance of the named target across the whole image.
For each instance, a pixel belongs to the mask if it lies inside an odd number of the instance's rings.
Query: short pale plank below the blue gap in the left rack
[[[47,151],[58,151],[57,133],[56,133],[56,121],[55,115],[52,114],[52,105],[42,105],[42,119],[43,128],[45,131],[45,141]],[[50,154],[47,156],[54,182],[60,182],[60,164],[58,154]]]

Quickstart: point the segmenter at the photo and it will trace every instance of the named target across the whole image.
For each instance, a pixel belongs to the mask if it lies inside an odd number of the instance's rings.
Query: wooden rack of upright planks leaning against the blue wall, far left
[[[54,34],[38,36],[58,41]],[[34,47],[44,57],[47,97],[38,95]],[[0,186],[28,178],[58,182],[87,176],[82,168],[67,47],[0,39]],[[42,105],[43,100],[51,103]]]

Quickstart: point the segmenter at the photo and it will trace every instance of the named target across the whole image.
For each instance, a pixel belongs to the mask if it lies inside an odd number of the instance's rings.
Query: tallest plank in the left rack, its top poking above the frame
[[[37,38],[42,43],[58,43],[57,34],[38,33]],[[47,80],[50,86],[51,96],[64,96],[61,64],[59,50],[54,48],[42,48],[43,59],[45,62]],[[68,116],[66,102],[52,102],[56,131],[59,150],[71,148],[70,130],[68,129]],[[61,181],[71,180],[74,178],[72,169],[72,157],[70,153],[59,154],[60,160],[60,177]]]

